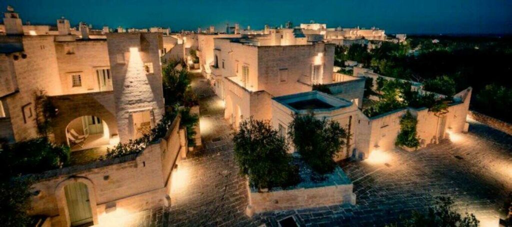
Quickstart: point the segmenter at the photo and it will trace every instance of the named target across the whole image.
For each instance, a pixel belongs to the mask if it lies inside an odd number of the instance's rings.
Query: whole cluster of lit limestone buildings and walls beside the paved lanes
[[[336,160],[364,159],[375,150],[394,148],[407,111],[368,118],[361,111],[365,81],[380,75],[357,67],[353,75],[334,72],[336,45],[389,41],[375,28],[287,23],[263,30],[228,25],[222,33],[214,27],[171,33],[163,28],[94,30],[84,23],[75,29],[65,18],[56,24],[24,25],[12,8],[4,13],[0,137],[11,143],[38,136],[34,93],[39,90],[56,108],[52,141],[70,145],[73,152],[140,137],[165,113],[162,65],[178,59],[209,80],[224,101],[224,118],[235,128],[254,117],[271,120],[286,135],[294,114],[338,121],[352,136]],[[331,94],[314,91],[315,85],[327,86]],[[409,108],[418,118],[422,146],[467,129],[470,98],[471,89],[463,90],[442,115]],[[171,176],[186,155],[179,119],[167,134],[139,155],[44,173],[34,185],[31,214],[48,217],[52,226],[70,226],[109,223],[110,216],[168,206]]]

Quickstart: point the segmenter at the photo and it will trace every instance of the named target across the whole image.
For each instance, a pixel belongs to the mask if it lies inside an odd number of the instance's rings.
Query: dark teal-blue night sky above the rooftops
[[[66,16],[94,27],[151,26],[196,30],[238,22],[261,29],[291,20],[295,25],[315,20],[328,27],[366,27],[390,33],[503,34],[512,33],[510,0],[2,0],[2,12],[12,5],[24,21],[55,24]]]

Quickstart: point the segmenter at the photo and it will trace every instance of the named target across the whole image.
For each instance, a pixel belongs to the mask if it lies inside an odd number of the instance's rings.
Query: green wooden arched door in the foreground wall
[[[64,187],[68,203],[71,226],[85,224],[93,221],[89,191],[83,183],[71,183]]]

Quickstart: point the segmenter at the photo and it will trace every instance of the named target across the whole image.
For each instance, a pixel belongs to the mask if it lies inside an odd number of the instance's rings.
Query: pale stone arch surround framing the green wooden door
[[[83,176],[70,176],[62,180],[55,188],[55,199],[57,200],[57,208],[59,216],[62,218],[63,226],[71,226],[70,211],[68,209],[68,201],[66,199],[65,187],[71,183],[82,183],[87,186],[89,204],[91,206],[92,220],[94,224],[98,224],[98,211],[96,204],[96,188],[93,182]]]

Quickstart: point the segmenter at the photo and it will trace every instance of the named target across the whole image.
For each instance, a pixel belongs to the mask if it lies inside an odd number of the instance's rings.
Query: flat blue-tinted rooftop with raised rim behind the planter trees
[[[297,113],[311,110],[330,111],[349,107],[352,105],[352,102],[348,100],[318,92],[317,90],[287,96],[279,96],[272,99]]]

